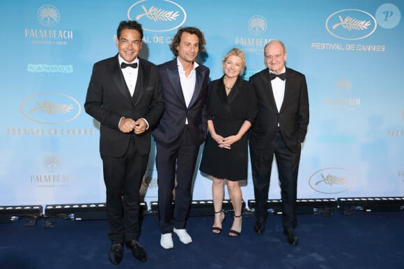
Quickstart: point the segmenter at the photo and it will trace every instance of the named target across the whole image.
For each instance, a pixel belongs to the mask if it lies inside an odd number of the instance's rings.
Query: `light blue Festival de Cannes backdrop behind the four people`
[[[404,195],[404,27],[400,0],[1,1],[0,205],[104,202],[99,123],[84,112],[93,64],[114,56],[122,20],[143,25],[140,56],[171,60],[180,26],[197,26],[210,79],[238,47],[244,79],[263,70],[270,40],[306,75],[310,124],[298,197]],[[270,198],[279,199],[277,170]],[[212,181],[195,172],[194,200]],[[249,178],[244,200],[254,199]],[[157,200],[155,145],[141,194]],[[228,194],[226,193],[228,197]]]

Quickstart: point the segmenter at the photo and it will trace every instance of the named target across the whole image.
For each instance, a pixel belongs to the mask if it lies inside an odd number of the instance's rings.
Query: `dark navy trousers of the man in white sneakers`
[[[199,146],[192,143],[189,129],[185,127],[178,147],[166,148],[158,144],[156,147],[159,224],[162,234],[167,234],[174,227],[185,228]]]

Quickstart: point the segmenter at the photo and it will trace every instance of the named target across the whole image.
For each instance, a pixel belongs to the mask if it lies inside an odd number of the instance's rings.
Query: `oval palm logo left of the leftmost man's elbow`
[[[81,106],[68,95],[40,93],[22,101],[21,112],[33,122],[61,124],[75,120],[81,112]]]

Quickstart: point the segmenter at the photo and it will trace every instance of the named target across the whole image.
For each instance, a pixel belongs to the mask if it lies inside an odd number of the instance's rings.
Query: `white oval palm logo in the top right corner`
[[[378,26],[375,17],[363,10],[345,9],[329,15],[328,33],[343,40],[359,40],[373,34]]]

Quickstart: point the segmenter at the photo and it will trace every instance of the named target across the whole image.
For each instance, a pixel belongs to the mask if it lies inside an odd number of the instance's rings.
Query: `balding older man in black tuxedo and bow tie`
[[[304,74],[285,66],[286,55],[283,42],[272,40],[264,49],[267,68],[249,79],[258,99],[249,145],[256,199],[254,230],[261,234],[265,229],[275,156],[281,182],[283,233],[291,245],[297,245],[297,172],[301,143],[309,124],[309,97]]]

